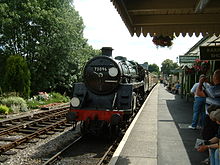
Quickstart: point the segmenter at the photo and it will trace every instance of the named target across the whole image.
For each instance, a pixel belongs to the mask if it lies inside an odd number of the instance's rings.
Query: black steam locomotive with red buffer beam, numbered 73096
[[[83,134],[97,135],[103,130],[117,134],[157,83],[144,65],[122,56],[113,59],[111,47],[101,50],[101,56],[85,65],[84,82],[74,84],[67,114],[68,121],[81,121]]]

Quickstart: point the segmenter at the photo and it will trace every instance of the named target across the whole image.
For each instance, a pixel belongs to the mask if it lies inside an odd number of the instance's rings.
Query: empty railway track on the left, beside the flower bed
[[[55,132],[71,126],[67,123],[66,113],[69,107],[58,107],[29,115],[0,121],[0,156],[14,154],[10,149],[22,149],[21,144],[32,139],[46,138]],[[1,161],[1,159],[0,159]]]

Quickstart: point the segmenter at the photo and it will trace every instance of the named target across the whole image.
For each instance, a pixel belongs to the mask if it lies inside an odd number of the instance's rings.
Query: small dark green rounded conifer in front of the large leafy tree
[[[7,92],[16,92],[28,98],[30,94],[30,71],[21,56],[10,56],[6,61],[4,88]]]

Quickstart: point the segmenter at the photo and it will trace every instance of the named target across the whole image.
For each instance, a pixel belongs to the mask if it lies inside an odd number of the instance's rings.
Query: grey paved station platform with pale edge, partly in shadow
[[[193,102],[158,84],[144,102],[109,165],[199,165],[208,157],[194,149]]]

